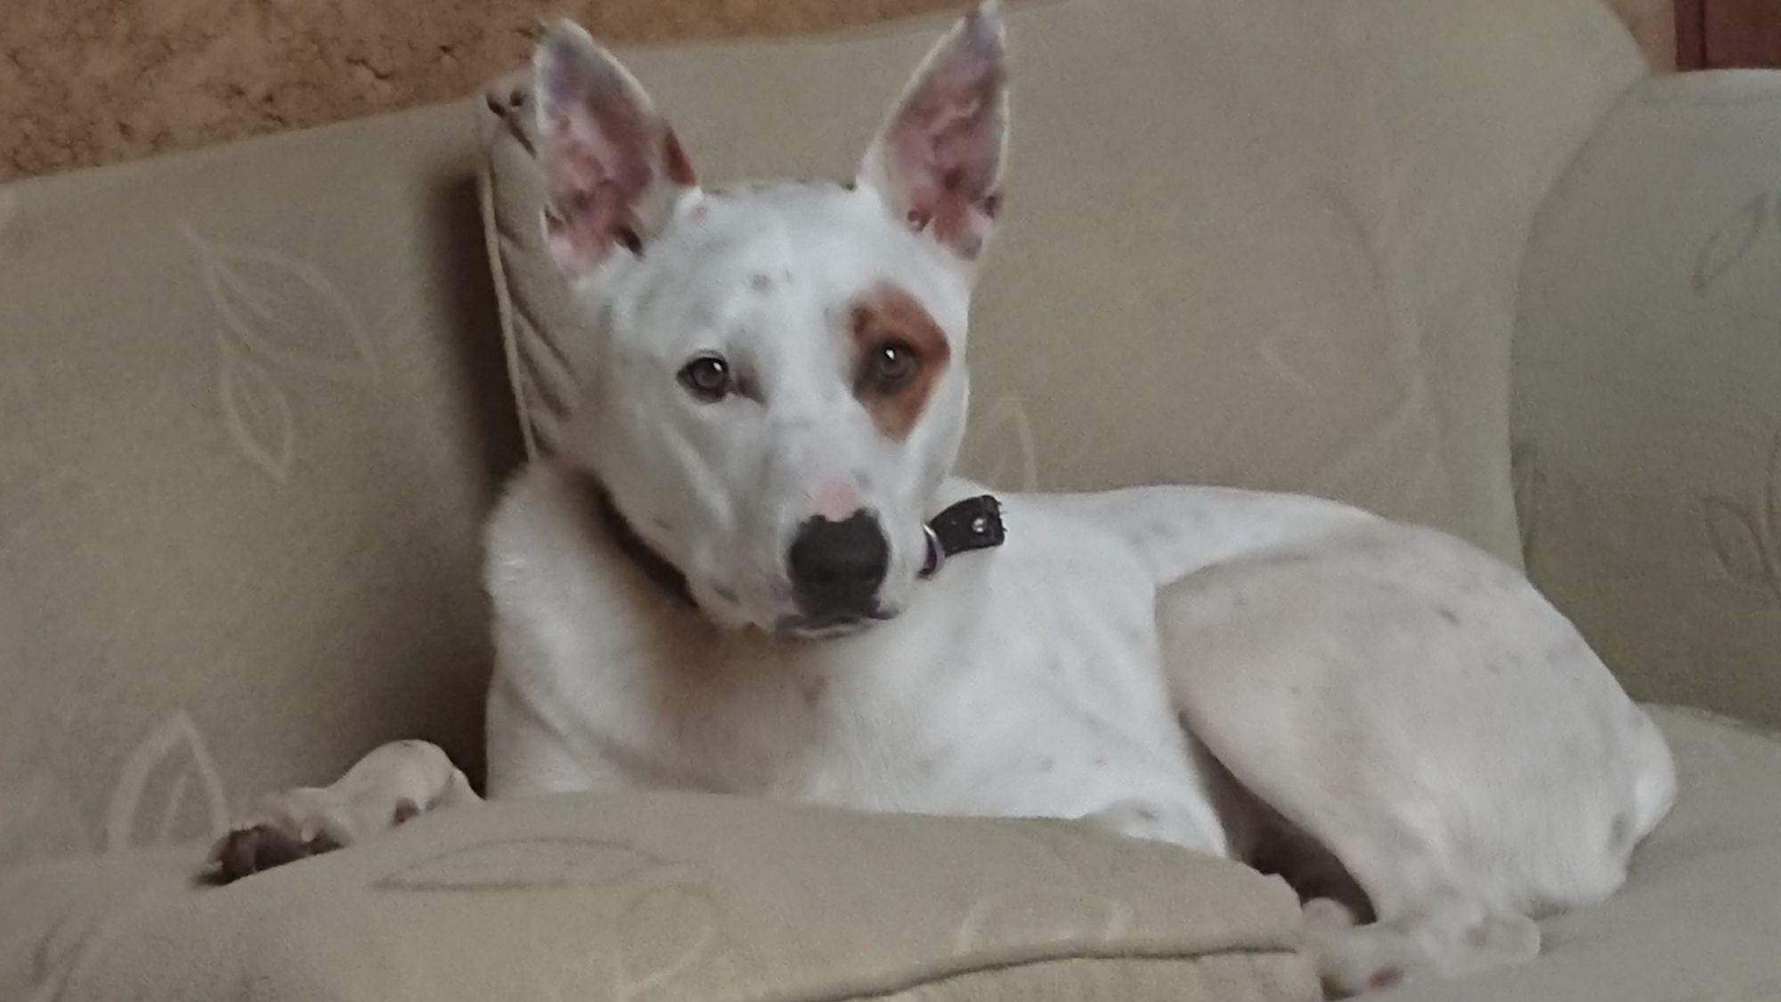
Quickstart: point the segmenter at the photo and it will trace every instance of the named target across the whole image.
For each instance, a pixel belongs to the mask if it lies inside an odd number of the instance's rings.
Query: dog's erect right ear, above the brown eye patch
[[[912,228],[976,259],[1001,207],[1008,75],[988,0],[928,52],[860,164],[858,182]]]

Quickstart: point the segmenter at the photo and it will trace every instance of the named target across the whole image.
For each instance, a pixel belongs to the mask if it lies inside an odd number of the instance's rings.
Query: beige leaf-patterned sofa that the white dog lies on
[[[1008,21],[964,471],[1453,531],[1678,752],[1617,897],[1380,998],[1781,998],[1781,75],[1599,0]],[[846,177],[939,27],[622,55],[705,177]],[[1316,998],[1279,879],[1069,820],[600,793],[198,879],[385,740],[481,774],[481,522],[586,342],[525,98],[0,187],[0,998]]]

